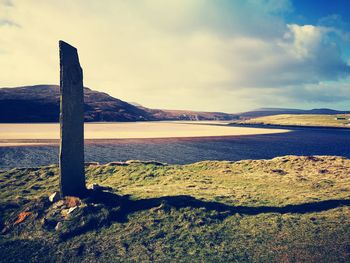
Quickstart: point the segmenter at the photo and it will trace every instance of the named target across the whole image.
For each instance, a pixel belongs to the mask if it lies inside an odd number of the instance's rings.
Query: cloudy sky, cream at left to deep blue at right
[[[150,108],[350,110],[349,0],[0,0],[0,87],[84,85]]]

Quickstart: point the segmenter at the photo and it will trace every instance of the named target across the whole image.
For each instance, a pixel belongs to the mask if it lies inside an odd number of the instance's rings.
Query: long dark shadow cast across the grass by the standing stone
[[[80,209],[71,220],[66,221],[60,232],[61,239],[69,239],[88,231],[111,225],[113,222],[128,222],[128,216],[135,212],[159,208],[164,210],[181,208],[203,208],[216,211],[218,220],[234,215],[258,215],[263,213],[313,213],[340,206],[350,206],[350,200],[326,200],[305,204],[276,206],[232,206],[220,202],[204,201],[188,195],[164,196],[132,200],[130,196],[120,196],[107,191],[89,190],[84,198],[86,207]]]

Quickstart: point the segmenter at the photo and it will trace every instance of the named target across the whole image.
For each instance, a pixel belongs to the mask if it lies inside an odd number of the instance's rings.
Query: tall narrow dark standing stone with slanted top
[[[77,49],[60,49],[60,190],[62,196],[85,193],[83,70]]]

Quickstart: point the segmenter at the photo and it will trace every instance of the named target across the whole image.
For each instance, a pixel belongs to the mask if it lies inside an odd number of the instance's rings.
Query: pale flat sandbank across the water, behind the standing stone
[[[200,125],[199,125],[200,124]],[[229,127],[218,122],[128,122],[85,123],[85,139],[155,139],[242,136],[289,132],[287,129]],[[0,124],[0,147],[55,145],[59,139],[57,123]]]

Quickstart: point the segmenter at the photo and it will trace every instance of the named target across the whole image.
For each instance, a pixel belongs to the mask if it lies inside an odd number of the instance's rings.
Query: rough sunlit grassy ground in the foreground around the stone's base
[[[62,220],[46,201],[57,172],[0,173],[0,229],[11,226],[0,236],[0,261],[350,260],[349,159],[89,166],[88,183],[110,193],[84,200],[58,231],[43,227],[44,216]],[[12,226],[21,211],[32,215]]]

